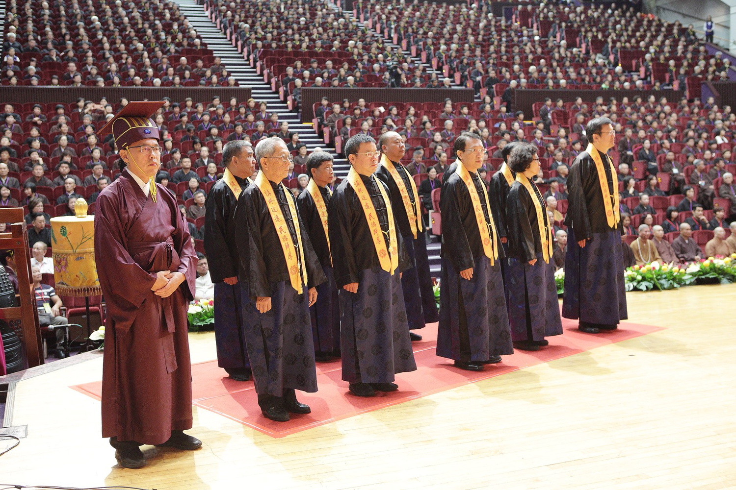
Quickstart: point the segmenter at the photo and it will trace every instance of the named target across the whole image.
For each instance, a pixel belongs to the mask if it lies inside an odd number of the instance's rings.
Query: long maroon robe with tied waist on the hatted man
[[[187,307],[197,254],[169,190],[146,198],[127,169],[96,201],[95,260],[107,303],[102,436],[161,444],[192,426]],[[186,276],[160,298],[160,270]]]

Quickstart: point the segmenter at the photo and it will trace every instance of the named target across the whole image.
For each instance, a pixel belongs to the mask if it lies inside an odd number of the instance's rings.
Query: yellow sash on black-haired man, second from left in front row
[[[368,229],[373,239],[375,251],[378,253],[378,262],[381,263],[381,269],[394,275],[394,271],[399,267],[399,247],[396,238],[396,228],[394,227],[394,212],[391,209],[389,195],[383,189],[383,182],[376,182],[376,184],[378,184],[378,190],[381,191],[383,202],[386,203],[386,214],[389,215],[390,250],[386,250],[386,240],[383,239],[383,230],[381,229],[381,223],[378,221],[378,215],[376,215],[373,201],[371,201],[368,190],[361,180],[361,176],[358,175],[358,172],[353,167],[350,167],[350,172],[347,173],[347,181],[353,187],[355,194],[358,195],[358,199],[361,201],[363,214],[368,222]]]

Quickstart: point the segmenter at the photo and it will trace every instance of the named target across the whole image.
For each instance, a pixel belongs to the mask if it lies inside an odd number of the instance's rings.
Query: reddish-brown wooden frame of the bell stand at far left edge
[[[26,347],[28,367],[35,367],[43,364],[43,349],[38,311],[32,295],[31,258],[23,212],[23,208],[0,208],[0,223],[12,223],[9,233],[0,233],[0,250],[13,250],[21,300],[21,306],[0,308],[0,319],[21,320],[21,342]]]

